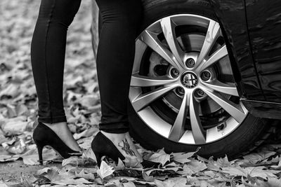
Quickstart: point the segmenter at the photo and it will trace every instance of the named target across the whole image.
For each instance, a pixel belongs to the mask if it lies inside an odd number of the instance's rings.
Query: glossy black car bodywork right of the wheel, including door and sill
[[[281,1],[209,1],[244,106],[256,117],[281,119]]]

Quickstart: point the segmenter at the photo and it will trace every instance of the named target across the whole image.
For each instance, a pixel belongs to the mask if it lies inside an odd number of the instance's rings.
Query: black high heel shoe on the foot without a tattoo
[[[44,146],[51,146],[57,151],[64,159],[70,158],[72,155],[81,155],[81,152],[74,151],[69,148],[61,139],[58,137],[51,128],[39,123],[33,132],[33,139],[37,145],[39,162],[43,165],[42,150]]]

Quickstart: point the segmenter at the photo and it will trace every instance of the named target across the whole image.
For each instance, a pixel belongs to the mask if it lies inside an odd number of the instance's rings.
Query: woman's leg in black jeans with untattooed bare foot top
[[[81,0],[41,0],[34,29],[31,60],[39,99],[38,121],[51,127],[74,150],[74,141],[63,109],[63,69],[67,28],[77,13]]]

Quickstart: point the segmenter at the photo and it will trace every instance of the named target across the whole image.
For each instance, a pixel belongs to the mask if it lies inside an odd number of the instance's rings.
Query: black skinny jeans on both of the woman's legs
[[[103,18],[97,55],[102,118],[100,130],[129,130],[127,103],[141,22],[141,0],[96,0]],[[67,28],[81,0],[41,0],[32,39],[31,59],[41,123],[66,122],[63,70]]]

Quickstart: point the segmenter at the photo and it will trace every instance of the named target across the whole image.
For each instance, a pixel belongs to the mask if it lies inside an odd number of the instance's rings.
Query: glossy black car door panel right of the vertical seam
[[[245,3],[261,88],[267,102],[281,103],[281,1],[247,0]]]

